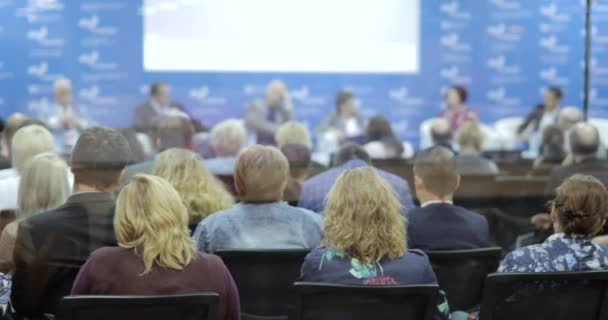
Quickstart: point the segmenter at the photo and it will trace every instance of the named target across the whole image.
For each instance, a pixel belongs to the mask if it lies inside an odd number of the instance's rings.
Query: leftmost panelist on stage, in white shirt
[[[74,106],[72,82],[61,78],[53,85],[53,108],[43,115],[57,142],[57,152],[69,154],[80,133],[91,126],[84,112]]]

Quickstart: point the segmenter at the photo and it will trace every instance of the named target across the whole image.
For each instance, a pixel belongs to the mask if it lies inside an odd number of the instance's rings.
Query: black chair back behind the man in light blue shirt
[[[287,316],[292,284],[310,250],[220,250],[239,289],[244,317]]]

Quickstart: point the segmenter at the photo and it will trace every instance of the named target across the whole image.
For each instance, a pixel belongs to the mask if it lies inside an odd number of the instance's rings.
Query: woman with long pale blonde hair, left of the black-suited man
[[[0,236],[0,272],[13,272],[19,223],[65,203],[71,189],[68,171],[65,161],[52,153],[39,154],[26,163],[19,183],[17,220],[6,225]]]

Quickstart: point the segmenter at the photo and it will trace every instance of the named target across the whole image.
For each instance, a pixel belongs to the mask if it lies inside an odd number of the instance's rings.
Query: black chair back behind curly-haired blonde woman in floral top
[[[362,286],[296,282],[295,320],[431,320],[437,285]]]

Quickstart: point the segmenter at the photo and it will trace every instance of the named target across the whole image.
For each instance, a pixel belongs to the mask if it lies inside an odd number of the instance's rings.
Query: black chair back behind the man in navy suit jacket
[[[484,280],[496,272],[502,248],[428,251],[439,288],[445,291],[450,309],[469,310],[481,303]]]

